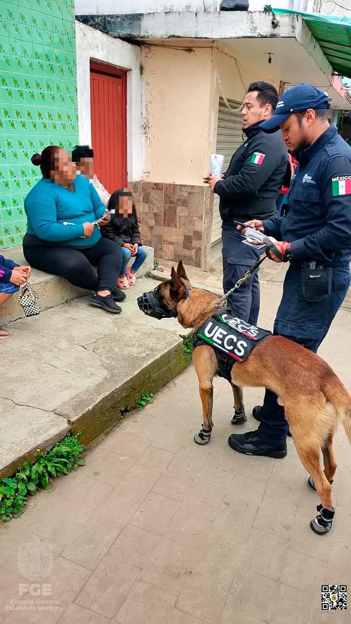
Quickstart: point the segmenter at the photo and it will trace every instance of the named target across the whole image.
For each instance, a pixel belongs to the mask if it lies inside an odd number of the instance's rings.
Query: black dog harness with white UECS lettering
[[[267,329],[260,329],[241,321],[229,308],[222,308],[209,316],[192,335],[192,346],[207,344],[214,349],[218,363],[218,375],[231,382],[232,366],[244,362],[252,349],[272,336]]]

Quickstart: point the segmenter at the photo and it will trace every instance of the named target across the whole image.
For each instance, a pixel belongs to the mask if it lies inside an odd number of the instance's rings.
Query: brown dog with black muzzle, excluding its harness
[[[172,267],[171,280],[162,282],[151,293],[159,310],[164,310],[164,316],[177,316],[184,328],[194,331],[215,313],[219,301],[208,291],[191,288],[182,261],[176,271]],[[147,295],[150,293],[142,297]],[[139,307],[146,311],[141,305],[142,297],[138,300]],[[154,316],[150,309],[146,313]],[[210,431],[214,426],[212,381],[218,372],[217,358],[212,347],[203,344],[194,349],[192,360],[199,378],[203,429]],[[351,442],[351,396],[344,384],[329,364],[312,351],[282,336],[270,336],[257,344],[245,361],[232,366],[231,386],[235,412],[244,412],[243,386],[268,388],[279,397],[300,460],[320,497],[317,510],[321,515],[311,521],[311,528],[319,534],[328,532],[335,512],[331,482],[337,468],[333,437],[339,421]]]

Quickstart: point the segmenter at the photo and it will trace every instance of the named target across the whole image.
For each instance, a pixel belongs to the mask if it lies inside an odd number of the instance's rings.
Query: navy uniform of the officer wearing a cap
[[[317,353],[350,286],[351,147],[332,125],[300,154],[299,162],[288,196],[289,214],[264,221],[264,231],[291,243],[274,333]],[[332,268],[331,292],[323,301],[311,303],[302,294],[302,263],[309,260]],[[285,442],[284,408],[268,390],[260,421],[262,442]]]

